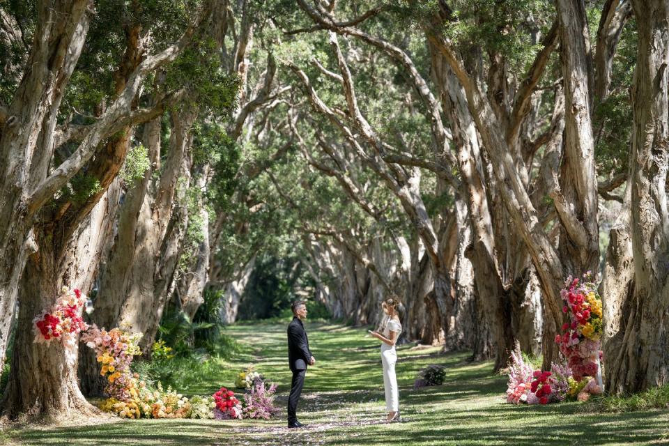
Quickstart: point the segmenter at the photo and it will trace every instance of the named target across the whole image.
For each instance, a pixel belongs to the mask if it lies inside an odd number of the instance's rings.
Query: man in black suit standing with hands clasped
[[[293,321],[288,325],[288,360],[293,372],[293,383],[291,394],[288,397],[288,426],[302,427],[304,424],[298,422],[295,411],[298,409],[298,401],[305,384],[307,364],[314,365],[316,360],[309,350],[309,339],[302,320],[307,318],[307,307],[305,302],[296,300],[291,306],[293,310]]]

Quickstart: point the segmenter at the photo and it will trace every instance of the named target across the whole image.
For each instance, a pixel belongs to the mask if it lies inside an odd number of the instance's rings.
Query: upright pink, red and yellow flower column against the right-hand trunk
[[[560,352],[567,358],[577,381],[583,376],[597,376],[601,355],[602,310],[597,285],[590,271],[583,280],[567,278],[560,291],[569,322],[562,325],[562,334],[555,337]]]

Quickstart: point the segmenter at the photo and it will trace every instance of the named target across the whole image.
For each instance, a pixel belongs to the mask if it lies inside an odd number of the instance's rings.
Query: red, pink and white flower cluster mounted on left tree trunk
[[[35,342],[51,344],[56,341],[65,350],[68,364],[77,360],[77,336],[89,328],[84,322],[82,312],[86,307],[86,295],[79,289],[61,288],[61,293],[51,309],[38,315],[35,324]]]

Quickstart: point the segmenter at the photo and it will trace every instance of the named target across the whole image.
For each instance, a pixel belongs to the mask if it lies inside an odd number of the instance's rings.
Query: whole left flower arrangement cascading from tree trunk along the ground
[[[100,408],[105,412],[115,413],[121,418],[201,418],[230,420],[249,418],[269,418],[276,413],[273,394],[276,385],[264,383],[263,376],[252,367],[243,372],[241,377],[245,388],[251,392],[245,395],[245,406],[235,397],[234,392],[221,387],[210,396],[194,396],[192,399],[183,394],[162,388],[157,383],[155,389],[149,389],[146,383],[133,374],[130,364],[135,356],[141,355],[138,342],[142,335],[131,333],[128,326],[121,323],[121,328],[105,330],[97,325],[89,327],[82,318],[88,298],[78,289],[61,289],[61,295],[49,312],[43,312],[34,319],[35,341],[50,344],[52,341],[62,344],[66,360],[73,364],[77,358],[77,341],[81,340],[95,351],[100,364],[100,375],[107,380],[105,393],[108,398],[102,401]],[[154,355],[161,360],[169,360],[171,348],[164,342],[153,344]],[[242,374],[240,374],[242,375]]]

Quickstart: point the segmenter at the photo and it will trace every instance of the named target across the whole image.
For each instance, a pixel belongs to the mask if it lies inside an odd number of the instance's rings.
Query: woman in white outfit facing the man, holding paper
[[[397,377],[395,376],[395,363],[397,352],[395,343],[402,331],[402,325],[397,315],[399,299],[388,298],[381,304],[385,316],[380,323],[380,332],[370,331],[373,337],[379,339],[381,344],[381,362],[383,362],[383,387],[385,387],[385,408],[388,411],[387,421],[399,421],[399,392],[397,391]]]

